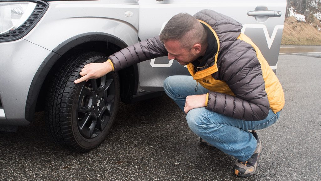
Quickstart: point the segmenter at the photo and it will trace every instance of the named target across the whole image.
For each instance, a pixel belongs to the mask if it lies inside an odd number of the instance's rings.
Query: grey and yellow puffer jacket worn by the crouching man
[[[284,106],[282,86],[256,45],[240,33],[242,25],[212,10],[196,13],[204,27],[210,29],[217,52],[202,67],[187,65],[188,71],[209,90],[206,109],[243,120],[265,119],[269,110]],[[167,56],[159,37],[131,45],[109,56],[115,71],[134,63]]]

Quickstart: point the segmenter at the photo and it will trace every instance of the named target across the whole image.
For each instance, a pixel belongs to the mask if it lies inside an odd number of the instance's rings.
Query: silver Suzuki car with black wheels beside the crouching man
[[[97,147],[120,101],[160,96],[168,76],[188,71],[160,57],[75,84],[83,66],[159,35],[175,14],[202,9],[243,24],[276,71],[286,0],[1,0],[0,130],[17,131],[44,110],[55,142],[80,152]]]

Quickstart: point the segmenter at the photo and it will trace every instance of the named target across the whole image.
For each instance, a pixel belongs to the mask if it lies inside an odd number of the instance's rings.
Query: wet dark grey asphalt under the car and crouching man
[[[53,143],[43,112],[17,133],[0,133],[0,180],[321,180],[321,54],[280,54],[281,118],[259,130],[254,176],[232,174],[235,158],[202,146],[167,96],[121,104],[108,138],[86,153]]]

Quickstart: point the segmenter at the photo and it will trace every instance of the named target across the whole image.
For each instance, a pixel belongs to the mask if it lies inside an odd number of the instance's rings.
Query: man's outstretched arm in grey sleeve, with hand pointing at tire
[[[110,55],[107,62],[85,65],[80,72],[82,77],[74,82],[79,83],[89,79],[97,79],[110,71],[119,71],[135,63],[166,56],[167,54],[168,52],[160,41],[159,36],[150,38]]]

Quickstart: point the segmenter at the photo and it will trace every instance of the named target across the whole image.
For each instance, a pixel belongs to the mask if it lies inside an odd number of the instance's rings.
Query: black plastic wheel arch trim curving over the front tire
[[[101,32],[92,32],[92,33],[83,33],[77,36],[74,36],[65,42],[59,44],[49,55],[46,59],[41,63],[39,69],[35,73],[33,80],[30,84],[27,101],[26,101],[26,108],[25,108],[25,119],[29,122],[32,121],[34,112],[36,109],[37,99],[39,96],[40,89],[46,79],[51,68],[54,64],[59,60],[59,58],[65,54],[67,51],[71,50],[77,45],[87,42],[94,42],[94,41],[102,41],[102,42],[109,42],[113,43],[120,48],[126,48],[128,45],[119,39],[118,37],[108,34],[108,33],[101,33]],[[134,70],[137,70],[137,65],[134,65]]]

